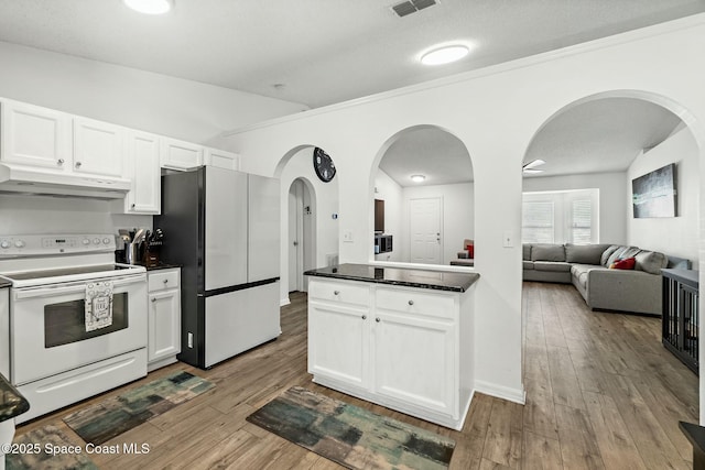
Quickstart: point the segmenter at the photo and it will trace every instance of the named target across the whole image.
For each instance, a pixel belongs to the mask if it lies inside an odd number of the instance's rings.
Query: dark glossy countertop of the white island
[[[465,292],[480,277],[477,273],[381,267],[370,264],[339,264],[306,271],[304,274],[451,292]]]

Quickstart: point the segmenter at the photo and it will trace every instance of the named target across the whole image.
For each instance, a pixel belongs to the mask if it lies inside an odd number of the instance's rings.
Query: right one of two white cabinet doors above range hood
[[[122,128],[74,118],[74,172],[120,177],[124,160]]]

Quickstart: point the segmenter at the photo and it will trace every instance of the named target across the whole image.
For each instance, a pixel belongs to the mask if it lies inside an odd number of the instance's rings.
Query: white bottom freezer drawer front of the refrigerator
[[[276,338],[279,281],[206,297],[205,367]]]

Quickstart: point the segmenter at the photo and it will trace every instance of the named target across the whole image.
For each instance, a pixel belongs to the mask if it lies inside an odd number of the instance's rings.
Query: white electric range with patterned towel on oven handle
[[[0,236],[18,423],[147,375],[147,271],[115,249],[105,233]]]

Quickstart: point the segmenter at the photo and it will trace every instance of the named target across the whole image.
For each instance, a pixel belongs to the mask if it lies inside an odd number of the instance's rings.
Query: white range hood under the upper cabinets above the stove
[[[0,193],[122,199],[130,187],[130,181],[123,178],[57,174],[11,163],[0,164]]]

